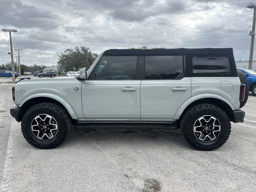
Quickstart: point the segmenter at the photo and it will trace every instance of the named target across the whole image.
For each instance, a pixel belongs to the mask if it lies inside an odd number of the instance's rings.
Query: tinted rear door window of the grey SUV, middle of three
[[[183,77],[183,56],[145,56],[146,79],[180,77]]]

